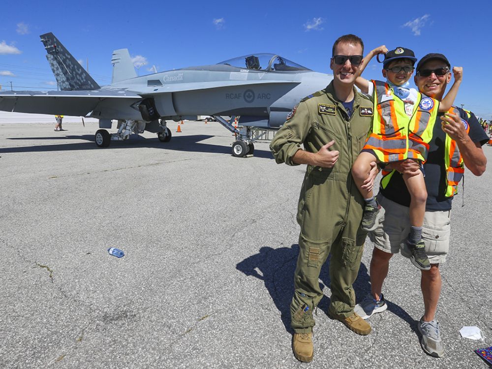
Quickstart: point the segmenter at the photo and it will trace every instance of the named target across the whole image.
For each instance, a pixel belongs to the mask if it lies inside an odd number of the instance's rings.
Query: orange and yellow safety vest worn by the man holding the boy
[[[461,117],[460,110],[460,108],[453,106],[449,109],[449,112],[458,113]],[[462,109],[462,111],[465,113],[467,119],[470,119],[470,112],[464,109]],[[461,119],[461,122],[464,124],[466,133],[468,133],[470,131],[470,124],[464,119]],[[458,144],[447,134],[446,141],[444,143],[444,164],[446,167],[446,193],[444,195],[446,197],[452,197],[458,193],[458,184],[464,175],[464,162],[458,148]],[[383,188],[386,188],[391,177],[393,176],[393,173],[395,173],[394,170],[386,171],[383,169],[381,171],[381,174],[383,175],[381,186]]]

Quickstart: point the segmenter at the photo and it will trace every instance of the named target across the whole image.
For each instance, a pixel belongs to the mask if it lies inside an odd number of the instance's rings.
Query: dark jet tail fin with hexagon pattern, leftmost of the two
[[[45,33],[39,37],[48,53],[46,59],[50,63],[60,90],[79,91],[100,88],[53,33]]]

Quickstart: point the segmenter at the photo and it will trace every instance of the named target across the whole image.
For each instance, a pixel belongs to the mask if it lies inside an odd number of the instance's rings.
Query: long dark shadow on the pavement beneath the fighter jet
[[[53,137],[12,137],[8,140],[85,140],[89,142],[78,143],[60,143],[55,145],[36,145],[36,146],[22,146],[22,147],[10,147],[0,148],[0,153],[35,153],[35,152],[51,152],[51,151],[72,151],[72,150],[111,150],[122,148],[155,148],[165,149],[181,152],[197,152],[197,153],[216,153],[216,154],[228,154],[232,155],[232,149],[230,146],[212,145],[207,143],[201,143],[200,141],[208,138],[215,137],[210,135],[192,135],[176,137],[173,136],[170,142],[160,142],[157,137],[145,138],[139,135],[131,135],[126,141],[112,141],[108,148],[98,148],[94,143],[93,135],[63,135]],[[232,144],[233,138],[231,138]],[[254,157],[261,157],[265,159],[273,159],[270,151],[255,149]]]

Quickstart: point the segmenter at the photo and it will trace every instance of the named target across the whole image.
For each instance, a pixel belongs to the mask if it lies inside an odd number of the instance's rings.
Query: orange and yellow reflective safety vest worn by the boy
[[[437,117],[439,101],[418,92],[412,116],[391,87],[381,81],[374,84],[372,133],[364,149],[373,150],[381,162],[405,159],[425,161]]]

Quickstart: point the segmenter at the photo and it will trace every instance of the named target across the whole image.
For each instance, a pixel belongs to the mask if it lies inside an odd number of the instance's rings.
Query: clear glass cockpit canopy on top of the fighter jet
[[[305,66],[291,62],[279,55],[265,53],[245,55],[218,64],[231,65],[241,69],[264,70],[269,72],[310,70]]]

